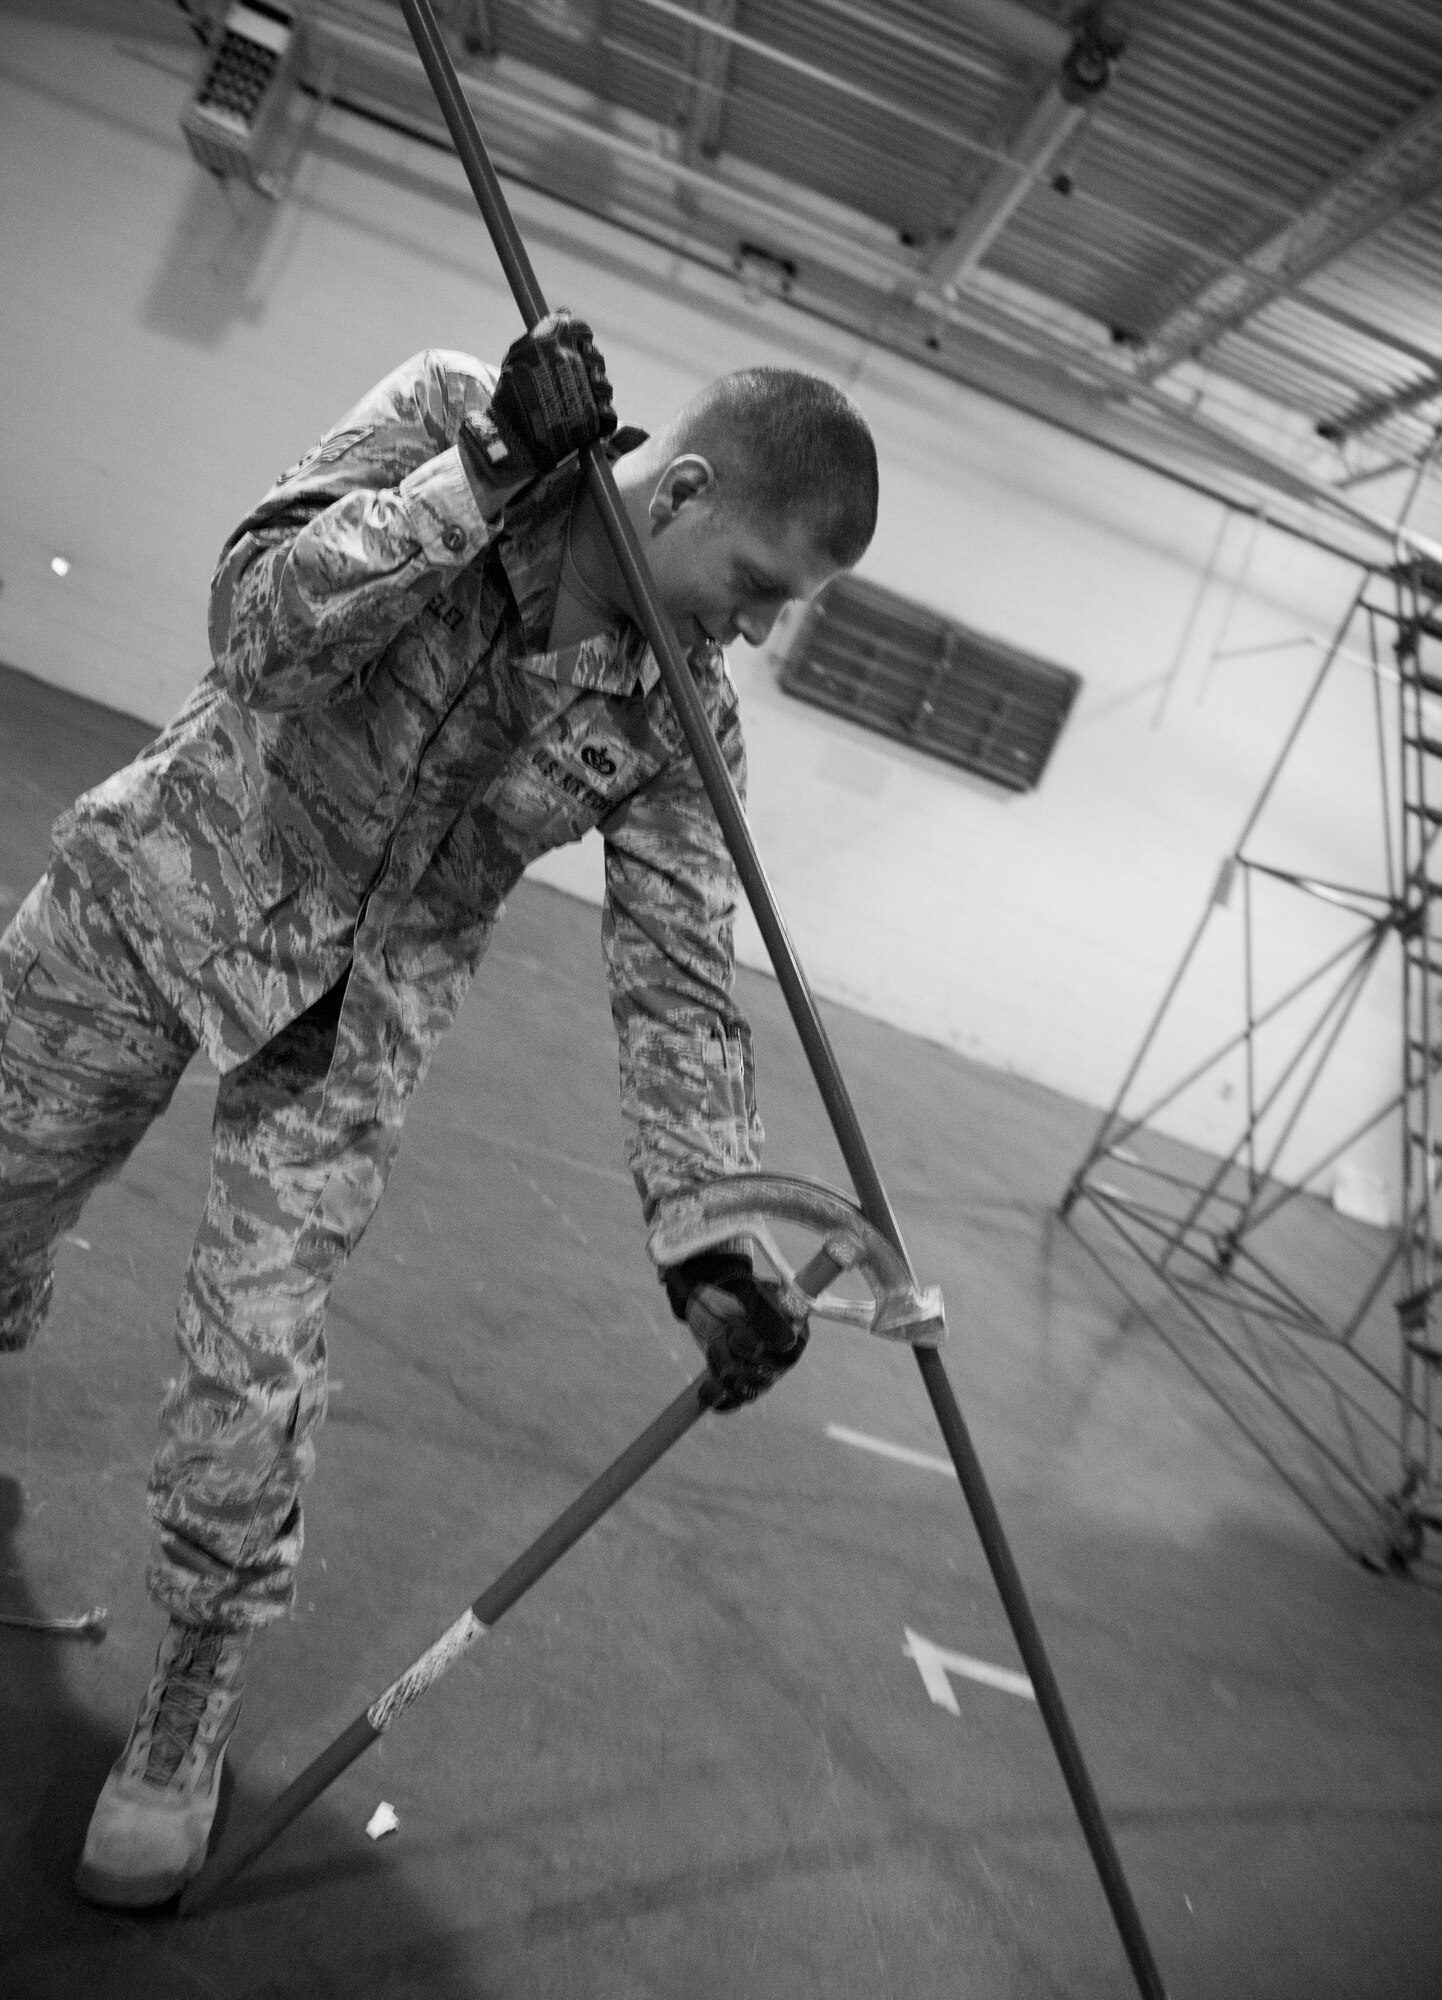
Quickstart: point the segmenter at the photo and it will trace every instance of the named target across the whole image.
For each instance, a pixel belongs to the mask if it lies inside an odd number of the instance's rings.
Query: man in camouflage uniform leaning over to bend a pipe
[[[196,1050],[220,1070],[148,1488],[170,1628],[86,1840],[94,1900],[166,1900],[204,1860],[248,1636],[294,1594],[330,1286],[502,898],[546,848],[606,840],[646,1218],[758,1162],[734,870],[576,452],[610,440],[738,786],[722,644],[758,644],[860,556],[876,460],[852,406],[788,370],[722,378],[658,440],[612,432],[600,356],[564,314],[500,370],[426,352],[380,382],[230,538],[212,670],[62,816],[0,940],[0,1346],[38,1328],[58,1236]],[[722,1406],[800,1354],[744,1256],[662,1276]]]

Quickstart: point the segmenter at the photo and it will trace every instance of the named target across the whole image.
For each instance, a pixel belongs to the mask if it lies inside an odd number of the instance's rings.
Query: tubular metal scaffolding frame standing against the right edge
[[[1262,852],[1278,782],[1324,690],[1354,666],[1372,686],[1378,886],[1278,866]],[[1060,1204],[1132,1310],[1328,1534],[1378,1568],[1424,1564],[1428,1574],[1428,1530],[1442,1530],[1440,830],[1442,568],[1398,544],[1390,568],[1362,574],[1324,648]],[[1264,994],[1258,950],[1278,896],[1324,908],[1334,936]],[[1158,1080],[1164,1028],[1204,976],[1218,912],[1238,902],[1240,1026],[1204,1060]],[[1396,1084],[1338,1130],[1318,1092],[1388,962],[1402,992]],[[1218,1084],[1238,1096],[1230,1146],[1208,1154],[1170,1136],[1178,1102],[1210,1088],[1216,1104]],[[1302,1146],[1308,1120],[1326,1126],[1316,1154]],[[1402,1156],[1400,1220],[1364,1228],[1324,1206],[1318,1188],[1388,1124]]]

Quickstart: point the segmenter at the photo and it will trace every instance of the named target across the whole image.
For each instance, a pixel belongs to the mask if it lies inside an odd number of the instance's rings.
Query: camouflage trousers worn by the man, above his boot
[[[326,1300],[380,1202],[400,1122],[344,1124],[326,1078],[344,984],[220,1082],[210,1192],[160,1410],[152,1598],[188,1622],[280,1618],[326,1412]],[[56,858],[0,938],[0,1348],[50,1302],[54,1246],[170,1102],[196,1038],[84,868]]]

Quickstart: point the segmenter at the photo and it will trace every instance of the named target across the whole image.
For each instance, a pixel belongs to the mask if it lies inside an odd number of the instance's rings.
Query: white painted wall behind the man
[[[206,584],[240,512],[396,360],[500,354],[514,310],[444,156],[332,112],[284,206],[226,196],[184,148],[194,58],[156,8],[110,8],[112,32],[52,12],[0,12],[0,658],[160,722],[204,666]],[[628,420],[658,424],[756,360],[830,374],[882,460],[864,574],[1084,676],[1042,788],[1016,798],[798,706],[768,656],[732,662],[756,836],[816,988],[1106,1102],[1354,574],[1264,530],[1232,600],[1234,518],[1198,606],[1212,502],[512,194]],[[1244,656],[1212,660],[1222,624]],[[1342,668],[1278,800],[1280,860],[1374,878],[1368,718],[1364,676]],[[596,848],[536,872],[598,896]],[[1212,928],[1162,1070],[1238,1024],[1236,916]],[[1278,978],[1316,928],[1314,908],[1278,914]],[[764,960],[750,922],[740,952]],[[1392,1086],[1394,1022],[1384,978],[1308,1144]],[[1234,1084],[1208,1082],[1174,1128],[1226,1144]],[[1390,1174],[1390,1146],[1364,1164]]]

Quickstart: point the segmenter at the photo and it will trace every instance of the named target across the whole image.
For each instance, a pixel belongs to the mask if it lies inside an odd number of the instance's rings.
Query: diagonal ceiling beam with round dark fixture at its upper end
[[[974,0],[966,0],[968,8],[972,4]],[[984,0],[984,4],[990,8],[994,0]],[[1112,64],[1122,52],[1120,36],[1102,30],[1092,16],[1082,16],[1070,34],[1058,32],[1066,44],[1060,64],[1052,66],[1050,82],[1032,102],[1006,148],[1008,158],[992,168],[926,262],[926,276],[932,284],[940,284],[948,296],[954,296],[962,280],[976,270],[1032,192],[1038,176],[1050,168],[1062,146],[1090,116],[1112,78]]]

